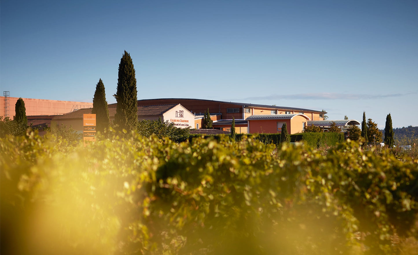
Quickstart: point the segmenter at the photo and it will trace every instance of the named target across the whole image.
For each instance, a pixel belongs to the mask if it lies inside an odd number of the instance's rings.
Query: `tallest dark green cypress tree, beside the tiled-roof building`
[[[136,130],[138,125],[138,96],[135,69],[132,58],[126,52],[122,55],[117,78],[117,91],[113,95],[117,101],[115,124],[119,130]]]

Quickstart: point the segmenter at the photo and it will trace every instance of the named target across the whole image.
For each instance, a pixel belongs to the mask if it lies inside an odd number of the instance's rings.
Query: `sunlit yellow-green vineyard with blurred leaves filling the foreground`
[[[1,138],[1,254],[416,254],[418,160],[354,142]]]

